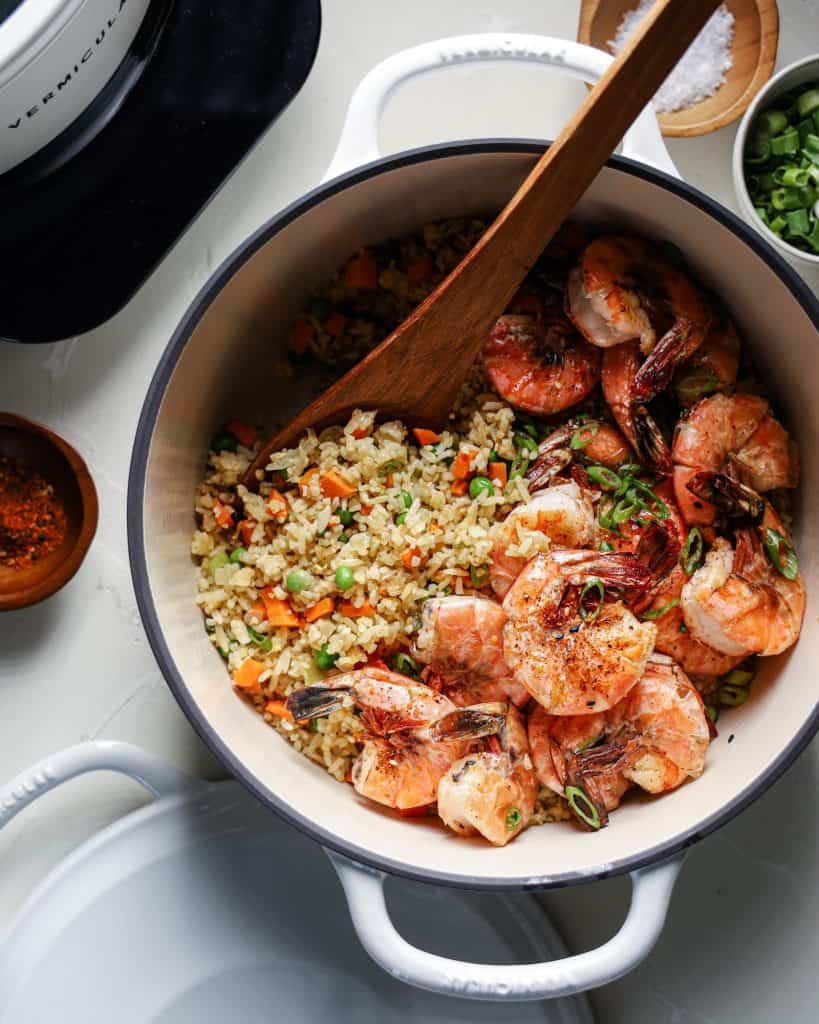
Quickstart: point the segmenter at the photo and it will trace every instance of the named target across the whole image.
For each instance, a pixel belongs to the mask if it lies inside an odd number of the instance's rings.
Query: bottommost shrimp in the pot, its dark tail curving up
[[[479,705],[474,710],[505,712],[498,750],[468,754],[438,783],[438,814],[460,836],[479,833],[505,846],[525,828],[534,810],[537,781],[529,758],[526,728],[511,705]]]

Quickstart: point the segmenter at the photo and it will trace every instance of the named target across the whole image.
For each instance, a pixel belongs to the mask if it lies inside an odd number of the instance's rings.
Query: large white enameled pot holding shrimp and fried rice
[[[660,799],[628,801],[594,835],[571,825],[531,828],[503,849],[458,839],[431,821],[407,822],[362,802],[271,734],[232,692],[193,602],[192,498],[208,439],[222,423],[240,413],[269,422],[306,401],[310,381],[277,377],[276,366],[288,327],[314,286],[361,245],[436,218],[498,210],[543,148],[493,139],[379,159],[379,116],[397,84],[438,67],[487,60],[535,61],[594,81],[609,59],[562,40],[487,35],[425,44],[376,68],[353,96],[325,183],[248,239],[191,305],[154,377],[131,465],[137,600],[190,721],[260,800],[328,849],[358,935],[378,963],[413,984],[476,998],[566,994],[635,967],[662,928],[685,849],[760,796],[817,729],[816,300],[759,236],[679,180],[650,113],[578,206],[581,217],[672,240],[728,303],[802,449],[796,545],[808,588],[799,646],[767,659],[752,699],[731,713],[712,745],[703,777]],[[464,964],[411,946],[392,927],[382,892],[385,872],[471,889],[546,889],[626,871],[632,905],[610,941],[519,967]]]

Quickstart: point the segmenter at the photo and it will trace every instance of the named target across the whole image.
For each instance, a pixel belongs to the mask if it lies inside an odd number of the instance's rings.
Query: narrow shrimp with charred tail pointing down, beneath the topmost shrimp
[[[641,461],[658,472],[667,474],[672,471],[669,445],[645,404],[636,397],[640,364],[640,349],[636,341],[607,348],[603,352],[601,373],[603,397],[617,426]]]

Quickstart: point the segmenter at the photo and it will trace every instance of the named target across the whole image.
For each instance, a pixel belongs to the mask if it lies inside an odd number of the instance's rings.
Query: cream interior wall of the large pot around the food
[[[166,669],[183,681],[217,745],[232,753],[259,790],[332,834],[336,844],[414,873],[442,872],[477,884],[549,884],[558,876],[604,871],[673,844],[761,786],[817,703],[816,329],[766,261],[727,226],[663,186],[611,167],[600,173],[578,213],[613,228],[669,239],[683,250],[732,310],[800,442],[795,538],[808,606],[799,646],[767,659],[751,699],[722,718],[700,780],[659,799],[628,800],[600,833],[546,825],[504,849],[458,839],[431,820],[398,819],[363,802],[351,786],[296,754],[234,695],[193,601],[188,555],[193,489],[209,438],[231,417],[269,423],[304,402],[308,381],[275,376],[287,329],[309,291],[358,246],[435,218],[498,209],[532,160],[520,152],[424,159],[337,191],[278,230],[215,294],[190,334],[149,439],[142,502],[149,599],[173,663]],[[132,494],[131,501],[137,500]]]

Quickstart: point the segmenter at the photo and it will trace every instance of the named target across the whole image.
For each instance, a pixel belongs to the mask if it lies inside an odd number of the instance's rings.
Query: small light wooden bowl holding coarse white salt
[[[611,53],[608,41],[627,11],[639,0],[581,0],[577,41]],[[663,135],[705,135],[744,114],[765,85],[776,61],[779,12],[776,0],[725,0],[734,15],[733,65],[713,96],[674,114],[658,114]]]

